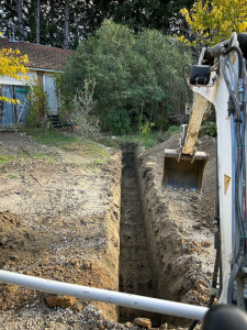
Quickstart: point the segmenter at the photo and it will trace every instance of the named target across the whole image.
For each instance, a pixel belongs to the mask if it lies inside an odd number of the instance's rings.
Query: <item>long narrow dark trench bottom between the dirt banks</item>
[[[122,145],[122,153],[120,290],[154,297],[156,279],[151,271],[151,255],[142,210],[135,167],[135,144]],[[159,315],[123,307],[120,308],[119,321],[124,323],[139,316],[151,319],[153,326],[160,324]]]

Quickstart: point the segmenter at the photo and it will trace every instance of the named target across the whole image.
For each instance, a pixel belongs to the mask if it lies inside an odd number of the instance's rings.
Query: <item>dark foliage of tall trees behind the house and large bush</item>
[[[16,0],[1,0],[1,26],[4,36],[15,35],[29,42],[36,42],[35,0],[22,0],[23,35],[20,34]],[[63,47],[65,31],[65,0],[41,0],[40,42],[41,44]],[[171,18],[179,20],[179,10],[189,8],[193,0],[70,0],[69,1],[69,48],[76,48],[81,40],[88,38],[101,26],[103,20],[142,32],[144,29],[157,29],[167,32]]]

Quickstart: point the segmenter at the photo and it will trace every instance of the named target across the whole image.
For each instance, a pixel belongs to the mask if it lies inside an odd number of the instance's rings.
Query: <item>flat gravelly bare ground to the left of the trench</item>
[[[120,152],[46,147],[9,132],[0,133],[0,152],[10,155],[0,168],[0,267],[117,290]],[[29,289],[0,285],[0,293],[2,310],[46,305]],[[97,306],[116,320],[115,307]]]

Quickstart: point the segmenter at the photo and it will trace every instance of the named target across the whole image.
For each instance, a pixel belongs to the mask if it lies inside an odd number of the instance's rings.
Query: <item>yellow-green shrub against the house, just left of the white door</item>
[[[36,78],[27,84],[29,94],[26,99],[30,103],[27,109],[27,125],[31,128],[43,128],[46,125],[47,95]]]

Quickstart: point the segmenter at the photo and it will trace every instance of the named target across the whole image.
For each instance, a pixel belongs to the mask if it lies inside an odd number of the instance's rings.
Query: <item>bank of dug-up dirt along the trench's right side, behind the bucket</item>
[[[159,282],[160,298],[206,305],[214,265],[214,166],[215,141],[201,139],[200,150],[210,154],[204,172],[202,195],[161,193],[164,150],[178,146],[179,134],[138,155],[144,215]],[[184,320],[172,320],[186,323]]]

